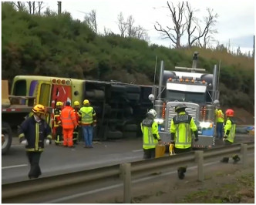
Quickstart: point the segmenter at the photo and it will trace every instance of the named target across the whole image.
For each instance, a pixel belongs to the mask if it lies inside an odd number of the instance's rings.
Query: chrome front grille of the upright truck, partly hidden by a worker
[[[199,105],[194,104],[194,103],[186,103],[184,104],[187,106],[186,112],[192,116],[195,120],[199,119]],[[177,113],[175,113],[174,108],[177,105],[177,102],[168,102],[167,103],[167,113],[166,113],[166,119],[167,121],[165,122],[165,130],[167,132],[170,132],[170,122],[171,119],[173,119],[173,116],[176,116]]]

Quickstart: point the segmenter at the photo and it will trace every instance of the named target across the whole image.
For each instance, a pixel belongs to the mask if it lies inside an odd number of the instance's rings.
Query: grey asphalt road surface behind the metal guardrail
[[[237,135],[236,143],[254,141],[254,136]],[[221,145],[221,142],[219,142]],[[128,163],[143,159],[141,139],[120,139],[94,142],[93,149],[83,148],[80,142],[76,148],[56,146],[45,147],[40,166],[42,176],[54,176],[79,170],[89,170],[116,163]],[[14,138],[9,152],[2,156],[2,184],[28,180],[29,163],[24,146]]]

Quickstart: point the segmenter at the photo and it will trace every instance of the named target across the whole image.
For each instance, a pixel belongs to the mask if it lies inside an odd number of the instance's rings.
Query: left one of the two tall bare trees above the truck
[[[167,2],[168,8],[170,9],[170,18],[173,21],[173,28],[167,26],[167,29],[163,29],[163,26],[157,22],[158,28],[154,25],[155,29],[162,33],[163,39],[170,39],[173,42],[173,47],[180,49],[180,39],[181,36],[184,35],[184,31],[187,29],[187,24],[183,20],[184,16],[184,2],[178,4],[177,11],[174,7],[173,3],[171,3],[172,7],[170,7],[169,2]],[[174,32],[174,34],[173,34]]]

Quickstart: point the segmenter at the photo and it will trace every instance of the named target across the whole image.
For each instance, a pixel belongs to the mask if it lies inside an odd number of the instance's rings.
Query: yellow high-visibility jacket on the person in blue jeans
[[[96,124],[96,113],[92,106],[83,106],[80,108],[79,122],[82,126]]]

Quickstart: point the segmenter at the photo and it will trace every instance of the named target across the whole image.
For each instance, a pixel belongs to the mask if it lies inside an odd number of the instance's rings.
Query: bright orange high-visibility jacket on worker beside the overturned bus
[[[71,106],[66,106],[60,114],[63,129],[74,129],[77,126],[76,115]]]

